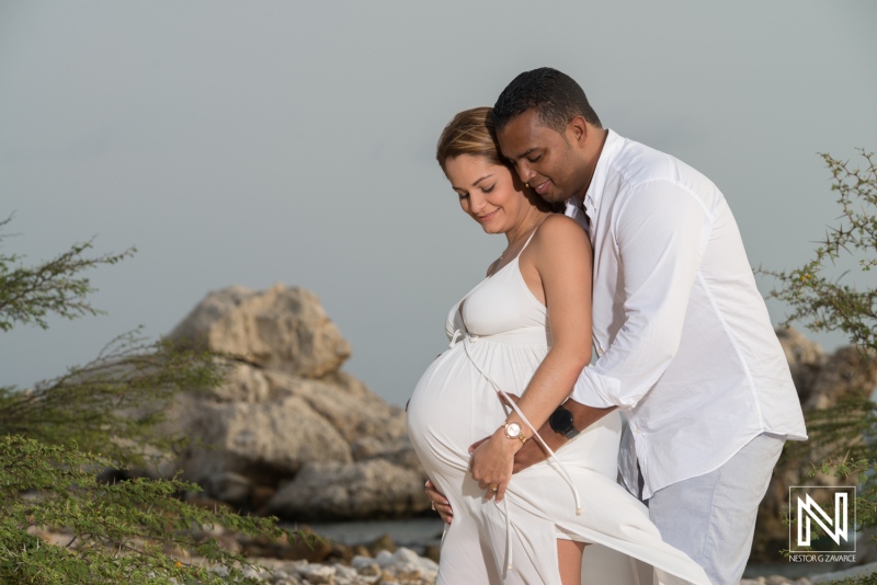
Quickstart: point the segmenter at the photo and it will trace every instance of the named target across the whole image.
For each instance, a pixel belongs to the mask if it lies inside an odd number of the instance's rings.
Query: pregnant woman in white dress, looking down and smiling
[[[457,114],[436,156],[463,210],[508,240],[487,277],[452,306],[451,346],[409,402],[414,449],[454,509],[438,583],[570,585],[583,574],[588,583],[611,585],[708,585],[704,571],[664,543],[645,506],[615,482],[618,414],[512,475],[516,450],[540,440],[535,429],[590,360],[590,242],[579,223],[551,213],[502,163],[490,108]],[[485,436],[470,456],[469,446]],[[600,553],[591,566],[589,551],[582,573],[590,544]],[[603,562],[622,555],[633,562]]]

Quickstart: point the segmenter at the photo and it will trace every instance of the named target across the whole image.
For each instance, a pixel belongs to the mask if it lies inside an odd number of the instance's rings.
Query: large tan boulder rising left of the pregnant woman
[[[176,403],[173,466],[208,497],[283,518],[429,507],[405,412],[340,370],[350,344],[317,297],[275,285],[210,292],[171,333],[227,356],[225,382]]]

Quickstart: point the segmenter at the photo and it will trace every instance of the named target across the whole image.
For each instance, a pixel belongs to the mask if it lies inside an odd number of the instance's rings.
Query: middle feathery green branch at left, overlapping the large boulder
[[[24,392],[0,388],[0,433],[57,445],[76,440],[113,461],[141,466],[148,452],[169,451],[180,443],[161,426],[174,397],[213,388],[223,376],[209,353],[128,333],[58,378]]]

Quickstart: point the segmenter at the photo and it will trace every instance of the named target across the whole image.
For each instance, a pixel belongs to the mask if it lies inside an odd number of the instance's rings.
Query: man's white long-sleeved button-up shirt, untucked
[[[616,405],[622,477],[642,498],[708,473],[761,433],[806,439],[798,394],[737,222],[675,158],[608,130],[584,199],[597,359],[571,398]],[[567,215],[580,215],[572,203]]]

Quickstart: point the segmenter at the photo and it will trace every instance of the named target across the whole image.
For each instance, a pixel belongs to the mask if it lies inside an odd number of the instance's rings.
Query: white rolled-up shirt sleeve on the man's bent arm
[[[679,351],[685,312],[713,222],[693,192],[651,181],[619,198],[610,216],[619,263],[624,321],[584,368],[572,399],[595,408],[634,408]]]

